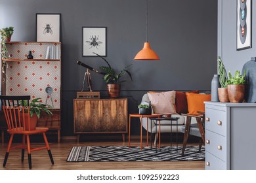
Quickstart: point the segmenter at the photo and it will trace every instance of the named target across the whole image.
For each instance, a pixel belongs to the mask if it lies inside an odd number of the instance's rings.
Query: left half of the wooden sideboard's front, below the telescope
[[[100,131],[100,101],[74,100],[74,133]]]

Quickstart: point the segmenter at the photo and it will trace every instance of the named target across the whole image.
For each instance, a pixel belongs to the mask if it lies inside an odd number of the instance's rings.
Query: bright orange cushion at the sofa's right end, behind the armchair
[[[198,115],[197,111],[205,111],[204,101],[211,101],[211,94],[186,93],[188,114]]]

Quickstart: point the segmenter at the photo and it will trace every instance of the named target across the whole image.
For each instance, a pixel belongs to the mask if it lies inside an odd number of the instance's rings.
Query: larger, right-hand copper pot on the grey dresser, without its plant
[[[230,103],[242,103],[244,101],[244,93],[244,84],[228,84],[228,99]]]

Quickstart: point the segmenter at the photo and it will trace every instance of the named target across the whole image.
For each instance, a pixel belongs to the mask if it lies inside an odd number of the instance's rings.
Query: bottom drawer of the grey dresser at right
[[[205,170],[226,170],[226,162],[205,152]]]

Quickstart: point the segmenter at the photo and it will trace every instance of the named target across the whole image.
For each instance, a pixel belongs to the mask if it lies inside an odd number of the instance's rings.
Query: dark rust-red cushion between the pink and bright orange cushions
[[[199,93],[199,90],[194,90],[189,93]],[[175,105],[176,105],[176,112],[178,114],[188,113],[188,101],[186,99],[186,92],[176,91]]]

